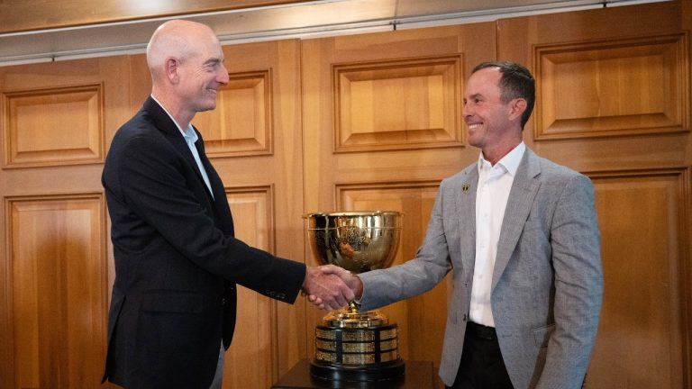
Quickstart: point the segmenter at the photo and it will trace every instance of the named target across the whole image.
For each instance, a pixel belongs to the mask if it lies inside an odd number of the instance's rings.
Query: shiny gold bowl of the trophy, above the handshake
[[[399,244],[401,213],[309,213],[305,217],[321,264],[336,265],[356,274],[392,264]]]

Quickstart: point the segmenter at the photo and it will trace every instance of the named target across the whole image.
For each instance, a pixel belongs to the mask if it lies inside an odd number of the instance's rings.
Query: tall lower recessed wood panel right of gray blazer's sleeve
[[[587,387],[681,388],[690,170],[596,174],[603,312]]]

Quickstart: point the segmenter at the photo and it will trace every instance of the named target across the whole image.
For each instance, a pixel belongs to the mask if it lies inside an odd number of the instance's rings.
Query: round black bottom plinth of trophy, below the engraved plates
[[[374,382],[404,379],[405,364],[401,359],[367,366],[343,366],[313,360],[310,374],[328,381]]]

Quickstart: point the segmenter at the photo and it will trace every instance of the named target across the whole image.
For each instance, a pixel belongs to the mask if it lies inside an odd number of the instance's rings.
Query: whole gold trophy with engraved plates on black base
[[[352,273],[392,264],[401,232],[401,213],[310,213],[308,236],[318,261]],[[396,323],[377,311],[360,312],[356,303],[323,318],[314,330],[313,376],[340,381],[401,378]]]

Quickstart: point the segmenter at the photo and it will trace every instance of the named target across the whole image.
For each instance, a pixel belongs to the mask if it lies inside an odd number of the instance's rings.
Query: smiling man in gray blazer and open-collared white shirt
[[[368,311],[423,294],[451,271],[440,366],[448,387],[585,380],[603,293],[594,189],[524,145],[534,84],[518,64],[474,68],[463,114],[478,162],[442,181],[414,259],[341,274]]]

